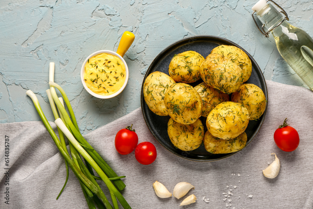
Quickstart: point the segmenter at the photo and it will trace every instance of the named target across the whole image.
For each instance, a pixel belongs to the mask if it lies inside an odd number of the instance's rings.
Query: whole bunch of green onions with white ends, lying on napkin
[[[73,170],[75,176],[78,178],[88,207],[90,209],[94,209],[96,208],[96,206],[100,209],[113,209],[113,207],[114,209],[117,209],[119,208],[117,202],[118,200],[124,208],[131,208],[125,198],[119,192],[119,190],[125,188],[125,184],[121,180],[121,178],[125,178],[125,176],[118,176],[81,135],[68,97],[66,96],[63,89],[58,84],[54,83],[54,63],[50,63],[49,85],[50,89],[48,89],[46,92],[52,112],[54,114],[55,123],[58,127],[60,141],[54,133],[53,129],[51,128],[49,122],[45,118],[35,94],[30,90],[28,90],[26,94],[33,100],[33,103],[41,120],[43,121],[46,129],[54,140],[57,148],[64,156],[65,164]],[[58,98],[54,87],[58,88],[63,98]],[[69,114],[65,110],[63,99],[66,103]],[[65,144],[64,134],[68,138],[72,158],[69,156],[69,152]],[[81,156],[85,159],[86,165],[83,163]],[[67,178],[62,190],[59,193],[59,196],[64,190],[66,182],[68,181],[68,166]],[[96,177],[94,175],[92,168],[97,172],[100,177]],[[96,182],[96,179],[102,180],[109,189],[113,207],[106,198],[98,183]]]

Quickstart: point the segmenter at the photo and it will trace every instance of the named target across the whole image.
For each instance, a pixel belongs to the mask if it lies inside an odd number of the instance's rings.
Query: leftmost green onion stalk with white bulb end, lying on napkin
[[[61,142],[59,141],[59,138],[57,135],[54,133],[53,129],[51,128],[47,118],[44,116],[44,113],[39,105],[38,99],[36,95],[33,93],[33,91],[28,90],[26,91],[26,94],[32,99],[35,108],[38,112],[39,117],[41,118],[42,122],[44,123],[44,126],[48,130],[50,136],[52,137],[55,145],[59,149],[60,153],[63,155],[64,159],[68,162],[69,167],[72,169],[74,174],[76,174],[79,179],[92,191],[93,193],[97,193],[99,190],[98,188],[81,172],[81,170],[75,165],[74,161],[70,158],[68,152],[66,152],[63,147]]]

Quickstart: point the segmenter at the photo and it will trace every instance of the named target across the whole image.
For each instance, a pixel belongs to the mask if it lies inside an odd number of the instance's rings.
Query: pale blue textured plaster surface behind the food
[[[49,62],[55,82],[67,93],[83,133],[140,107],[144,74],[168,45],[193,35],[229,39],[248,51],[267,80],[305,86],[280,57],[273,38],[265,38],[251,17],[257,1],[0,1],[0,123],[40,120],[25,92],[38,94],[49,121],[54,121],[45,90]],[[313,36],[313,1],[277,1],[290,23]],[[136,38],[124,59],[130,70],[126,89],[101,100],[80,81],[85,58],[97,50],[117,50],[124,31]],[[266,69],[266,70],[265,70]],[[285,92],[282,92],[285,93]]]

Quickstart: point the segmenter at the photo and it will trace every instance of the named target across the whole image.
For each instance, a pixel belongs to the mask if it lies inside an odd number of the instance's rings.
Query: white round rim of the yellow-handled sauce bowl
[[[95,92],[91,91],[87,86],[86,86],[86,83],[84,81],[84,74],[85,74],[85,65],[86,65],[86,62],[93,56],[95,55],[99,55],[99,54],[102,54],[102,53],[107,53],[107,54],[110,54],[110,55],[115,55],[117,56],[118,58],[120,58],[125,66],[125,71],[126,71],[126,77],[125,77],[125,82],[123,84],[123,86],[120,88],[120,90],[116,91],[114,94],[110,94],[110,95],[100,95],[100,94],[96,94]],[[100,99],[109,99],[109,98],[112,98],[112,97],[115,97],[117,95],[119,95],[125,88],[126,84],[127,84],[127,81],[128,81],[128,67],[127,67],[127,64],[125,62],[125,60],[123,59],[123,57],[121,57],[121,55],[117,54],[116,52],[114,51],[110,51],[110,50],[100,50],[100,51],[96,51],[94,53],[92,53],[91,55],[89,55],[86,60],[84,61],[83,65],[81,66],[81,70],[80,70],[80,80],[84,86],[84,88],[86,89],[86,91],[88,93],[90,93],[92,96],[94,97],[97,97],[97,98],[100,98]]]

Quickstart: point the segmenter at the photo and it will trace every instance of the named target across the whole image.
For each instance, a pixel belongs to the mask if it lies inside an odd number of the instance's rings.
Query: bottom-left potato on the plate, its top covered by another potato
[[[172,118],[167,123],[167,133],[172,144],[181,150],[190,151],[197,149],[204,136],[204,128],[200,119],[192,124],[181,124],[175,122]]]

